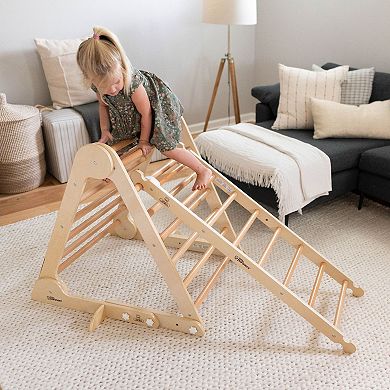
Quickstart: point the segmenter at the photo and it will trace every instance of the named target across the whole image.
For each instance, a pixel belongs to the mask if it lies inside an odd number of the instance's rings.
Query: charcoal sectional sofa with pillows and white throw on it
[[[327,63],[323,68],[331,69],[336,66],[338,65]],[[278,110],[279,84],[254,87],[252,95],[260,101],[256,105],[256,124],[271,129]],[[370,102],[389,99],[390,74],[376,72]],[[313,139],[314,130],[279,130],[279,132],[321,149],[331,160],[333,189],[329,196],[320,197],[309,206],[351,191],[360,193],[359,207],[364,196],[385,204],[390,202],[390,140]],[[256,201],[277,209],[277,199],[272,189],[243,183],[231,177],[229,179]]]

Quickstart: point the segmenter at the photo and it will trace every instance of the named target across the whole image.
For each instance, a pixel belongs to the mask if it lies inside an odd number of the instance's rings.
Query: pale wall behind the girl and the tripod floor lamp
[[[102,25],[118,35],[134,66],[171,85],[188,123],[203,122],[227,28],[201,23],[201,7],[201,0],[0,0],[0,92],[10,103],[50,104],[34,38],[90,36]],[[254,111],[254,47],[254,26],[232,27],[242,113]],[[227,116],[227,69],[224,76],[212,119]]]

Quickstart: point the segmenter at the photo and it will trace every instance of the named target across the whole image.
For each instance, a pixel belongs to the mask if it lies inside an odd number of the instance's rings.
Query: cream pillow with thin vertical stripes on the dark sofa
[[[348,66],[313,72],[279,64],[280,100],[278,116],[272,128],[312,129],[310,98],[340,102],[341,83],[346,79]]]

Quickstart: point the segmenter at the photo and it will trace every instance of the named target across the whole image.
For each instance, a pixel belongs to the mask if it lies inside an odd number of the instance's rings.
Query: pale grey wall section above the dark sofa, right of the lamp
[[[278,63],[390,72],[389,42],[388,0],[258,0],[255,82],[278,82]]]

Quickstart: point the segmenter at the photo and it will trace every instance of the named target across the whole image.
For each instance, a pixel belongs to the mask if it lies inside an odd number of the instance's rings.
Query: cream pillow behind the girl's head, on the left
[[[85,85],[77,65],[76,53],[82,41],[35,39],[53,107],[56,109],[97,100],[96,94]]]

